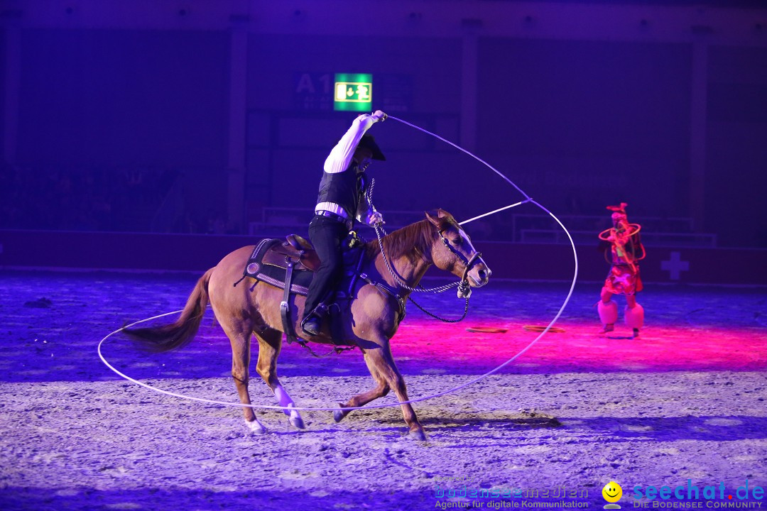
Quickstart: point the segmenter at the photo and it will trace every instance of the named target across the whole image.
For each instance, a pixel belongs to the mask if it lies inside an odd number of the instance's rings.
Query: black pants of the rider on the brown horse
[[[344,275],[341,247],[349,234],[346,224],[332,218],[315,215],[309,223],[309,239],[320,257],[320,267],[314,272],[304,306],[304,318],[331,293]]]

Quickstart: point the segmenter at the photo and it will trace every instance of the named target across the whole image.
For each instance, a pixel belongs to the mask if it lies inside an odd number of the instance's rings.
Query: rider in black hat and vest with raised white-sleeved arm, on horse
[[[320,332],[335,287],[344,269],[341,249],[354,225],[354,219],[368,225],[383,224],[383,216],[370,205],[365,192],[370,185],[365,170],[374,159],[384,161],[384,153],[373,136],[365,132],[387,115],[380,110],[357,117],[325,160],[314,218],[309,223],[309,239],[321,264],[309,286],[301,329],[309,336]]]

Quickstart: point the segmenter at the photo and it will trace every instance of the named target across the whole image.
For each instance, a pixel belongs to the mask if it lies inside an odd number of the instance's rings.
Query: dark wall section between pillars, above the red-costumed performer
[[[561,213],[686,216],[686,44],[483,38],[479,152]]]

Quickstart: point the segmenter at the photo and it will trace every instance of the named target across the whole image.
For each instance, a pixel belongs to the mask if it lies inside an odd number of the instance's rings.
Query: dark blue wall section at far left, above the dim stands
[[[229,38],[25,29],[21,165],[226,165]]]

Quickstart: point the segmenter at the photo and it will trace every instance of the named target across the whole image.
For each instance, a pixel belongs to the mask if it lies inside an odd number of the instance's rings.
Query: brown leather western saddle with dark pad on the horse
[[[361,243],[354,242],[357,239],[353,237],[350,244],[344,244],[349,248],[344,251],[344,279],[336,292],[336,300],[351,298],[354,284],[360,273],[364,251],[359,246]],[[306,296],[314,271],[319,266],[320,258],[314,251],[314,247],[298,234],[289,234],[285,237],[285,241],[275,238],[259,241],[245,265],[242,278],[252,277],[285,291],[280,303],[280,314],[288,342],[296,341],[304,344],[298,339],[291,321],[288,305],[290,295],[295,293]],[[344,289],[347,289],[346,293]]]

